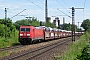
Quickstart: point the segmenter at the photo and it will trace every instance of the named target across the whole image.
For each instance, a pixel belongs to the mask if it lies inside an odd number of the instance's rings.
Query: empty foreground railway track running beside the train
[[[43,53],[45,53],[45,52],[47,52],[51,49],[54,49],[55,47],[57,47],[61,44],[64,44],[65,42],[68,42],[70,40],[71,40],[71,38],[69,38],[68,40],[64,39],[64,40],[61,40],[57,43],[52,43],[52,44],[49,44],[49,45],[39,47],[37,49],[28,50],[27,52],[18,54],[18,55],[13,56],[13,57],[9,57],[9,58],[7,58],[7,60],[31,60],[34,57],[37,57],[37,56],[39,56],[39,55],[41,55],[41,54],[43,54]]]

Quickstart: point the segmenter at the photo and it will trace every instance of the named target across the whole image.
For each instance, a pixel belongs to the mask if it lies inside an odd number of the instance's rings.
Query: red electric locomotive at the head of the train
[[[33,26],[20,26],[19,42],[21,44],[31,44],[32,41],[44,39],[44,29]]]

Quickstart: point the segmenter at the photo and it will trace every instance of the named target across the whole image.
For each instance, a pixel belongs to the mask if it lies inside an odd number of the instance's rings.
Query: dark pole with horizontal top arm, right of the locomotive
[[[72,9],[72,41],[75,41],[75,19],[74,19],[74,12],[75,12],[75,9],[84,9],[84,8],[70,8]]]

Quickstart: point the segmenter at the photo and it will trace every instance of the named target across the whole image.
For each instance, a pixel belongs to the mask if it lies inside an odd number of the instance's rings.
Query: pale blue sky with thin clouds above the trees
[[[77,22],[90,19],[90,0],[47,0],[47,3],[48,17],[51,17],[51,21],[55,17],[59,17],[60,23],[62,24],[64,17],[65,23],[72,23],[72,19],[66,16],[69,15],[72,17],[72,10],[70,9],[72,7],[84,8],[75,9],[76,25],[78,25]],[[29,16],[35,17],[39,21],[45,21],[45,0],[0,0],[0,19],[5,18],[5,8],[7,8],[7,17],[11,18],[13,22],[26,19],[25,17]],[[15,16],[18,13],[20,14]]]

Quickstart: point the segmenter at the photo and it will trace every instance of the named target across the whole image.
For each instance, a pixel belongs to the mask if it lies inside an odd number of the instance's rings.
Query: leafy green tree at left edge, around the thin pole
[[[4,37],[6,34],[6,37],[11,37],[10,35],[16,30],[15,26],[12,24],[12,20],[7,18],[0,19],[0,36]]]

